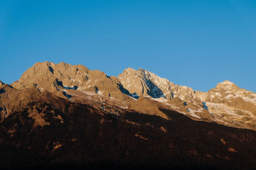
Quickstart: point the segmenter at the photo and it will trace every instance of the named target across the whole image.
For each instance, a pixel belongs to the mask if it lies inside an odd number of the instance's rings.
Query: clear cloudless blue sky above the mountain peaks
[[[0,80],[47,60],[256,92],[256,1],[0,0]]]

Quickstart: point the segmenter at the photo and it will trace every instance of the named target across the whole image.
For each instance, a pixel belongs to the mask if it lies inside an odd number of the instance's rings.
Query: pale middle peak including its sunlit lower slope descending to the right
[[[132,96],[149,97],[167,105],[169,110],[179,111],[195,120],[214,121],[209,111],[205,110],[200,97],[190,87],[175,85],[145,69],[136,71],[128,68],[118,78]]]

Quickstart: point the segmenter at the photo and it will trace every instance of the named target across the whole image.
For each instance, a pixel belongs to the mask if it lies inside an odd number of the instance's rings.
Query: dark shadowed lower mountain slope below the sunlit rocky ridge
[[[0,164],[255,168],[255,131],[161,111],[170,120],[131,111],[113,117],[42,92],[1,122]]]

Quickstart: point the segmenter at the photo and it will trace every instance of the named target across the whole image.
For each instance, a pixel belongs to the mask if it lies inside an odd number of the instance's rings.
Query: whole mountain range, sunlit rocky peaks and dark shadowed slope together
[[[37,62],[0,84],[0,168],[256,168],[256,94]],[[26,155],[26,156],[25,156]]]

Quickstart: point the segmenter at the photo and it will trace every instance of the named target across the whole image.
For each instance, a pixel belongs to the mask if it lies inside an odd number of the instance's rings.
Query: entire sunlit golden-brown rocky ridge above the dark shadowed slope
[[[90,98],[98,108],[109,104],[110,108],[118,106],[120,110],[126,108],[168,118],[157,109],[164,107],[195,120],[256,129],[256,94],[239,89],[228,80],[218,83],[208,92],[200,92],[175,85],[147,69],[128,67],[116,77],[79,64],[36,62],[11,86],[18,90],[35,87],[41,92],[46,90],[79,103],[83,103],[84,98]],[[156,108],[150,110],[147,104],[138,107],[137,99],[142,96],[156,101],[150,102]],[[143,103],[146,101],[143,100]]]

